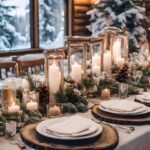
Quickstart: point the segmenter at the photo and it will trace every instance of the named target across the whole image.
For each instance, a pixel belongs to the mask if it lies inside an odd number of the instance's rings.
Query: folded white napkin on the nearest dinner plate
[[[88,130],[92,124],[92,120],[75,115],[67,120],[48,126],[47,130],[57,134],[71,135]]]

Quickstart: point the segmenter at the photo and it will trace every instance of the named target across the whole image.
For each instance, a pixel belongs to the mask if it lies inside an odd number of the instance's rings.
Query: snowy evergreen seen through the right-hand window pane
[[[40,1],[40,41],[54,41],[59,33],[61,24],[62,0],[41,0]]]

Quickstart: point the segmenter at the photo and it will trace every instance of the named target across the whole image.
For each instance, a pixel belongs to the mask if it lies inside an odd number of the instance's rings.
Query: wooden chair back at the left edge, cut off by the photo
[[[10,73],[10,74],[9,74]],[[18,76],[18,66],[15,61],[0,62],[0,79],[3,80],[10,76]]]

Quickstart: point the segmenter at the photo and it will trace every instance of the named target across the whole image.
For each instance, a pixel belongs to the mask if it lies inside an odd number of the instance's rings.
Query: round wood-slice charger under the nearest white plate
[[[50,138],[44,139],[36,132],[36,125],[27,125],[20,130],[20,136],[22,140],[33,148],[39,150],[113,150],[119,141],[117,131],[109,126],[102,124],[103,131],[99,137],[93,139],[93,141],[78,142],[76,144],[72,142],[63,141],[60,142]]]

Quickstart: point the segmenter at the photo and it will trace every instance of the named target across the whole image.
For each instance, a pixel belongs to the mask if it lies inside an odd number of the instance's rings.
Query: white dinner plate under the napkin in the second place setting
[[[109,103],[109,105],[115,105],[119,101],[120,100],[105,101],[105,102],[103,102],[103,106],[99,105],[99,109],[104,112],[117,114],[117,115],[143,115],[143,114],[150,113],[149,107],[147,107],[143,104],[137,103],[137,102],[133,102],[133,101],[131,101],[132,104],[135,103],[137,106],[139,105],[139,107],[140,107],[139,109],[136,109],[135,111],[115,111],[115,110],[112,110],[112,109],[109,109],[106,107],[108,103]],[[124,100],[124,101],[126,101],[126,100]]]

